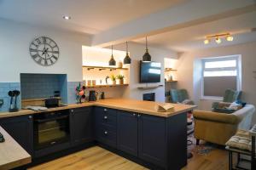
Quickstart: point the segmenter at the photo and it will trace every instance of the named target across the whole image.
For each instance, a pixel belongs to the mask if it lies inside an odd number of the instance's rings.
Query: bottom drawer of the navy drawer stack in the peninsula
[[[116,133],[111,131],[108,126],[101,126],[96,128],[96,139],[102,144],[108,144],[116,148]]]

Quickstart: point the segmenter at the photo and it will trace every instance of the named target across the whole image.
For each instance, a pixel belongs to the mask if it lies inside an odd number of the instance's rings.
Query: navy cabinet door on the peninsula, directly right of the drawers
[[[118,111],[117,114],[117,147],[133,156],[137,156],[137,114]]]

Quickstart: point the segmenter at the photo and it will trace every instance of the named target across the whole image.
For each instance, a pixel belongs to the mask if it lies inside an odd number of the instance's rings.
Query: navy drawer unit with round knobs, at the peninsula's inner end
[[[113,148],[117,146],[116,110],[104,107],[94,108],[96,141]]]

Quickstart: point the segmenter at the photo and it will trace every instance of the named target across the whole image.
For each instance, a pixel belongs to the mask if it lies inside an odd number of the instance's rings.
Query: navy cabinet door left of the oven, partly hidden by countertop
[[[33,155],[33,118],[29,116],[13,116],[0,119],[0,125],[31,156]]]

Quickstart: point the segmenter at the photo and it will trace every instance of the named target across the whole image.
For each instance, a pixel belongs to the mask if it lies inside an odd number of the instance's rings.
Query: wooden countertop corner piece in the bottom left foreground
[[[5,142],[0,143],[0,169],[12,169],[26,165],[32,161],[31,156],[24,150],[3,127],[0,127]]]

